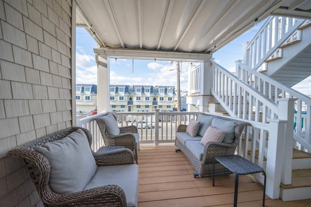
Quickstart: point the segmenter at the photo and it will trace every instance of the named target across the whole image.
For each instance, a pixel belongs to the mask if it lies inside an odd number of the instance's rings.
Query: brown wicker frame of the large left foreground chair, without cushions
[[[26,170],[32,178],[35,188],[45,206],[126,206],[126,197],[123,189],[118,185],[106,185],[98,188],[79,191],[70,194],[58,194],[52,191],[49,185],[51,166],[49,160],[42,154],[34,151],[35,146],[60,140],[81,127],[69,127],[52,133],[23,146],[12,149],[7,153],[10,157],[22,158]],[[89,145],[92,143],[90,132],[81,128],[85,133]],[[97,166],[133,164],[133,153],[129,149],[117,149],[113,152],[94,153]]]

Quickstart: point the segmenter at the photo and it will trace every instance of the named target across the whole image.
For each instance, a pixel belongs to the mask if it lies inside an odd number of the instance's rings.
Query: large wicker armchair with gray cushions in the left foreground
[[[138,203],[138,165],[122,148],[96,153],[91,133],[69,127],[7,153],[22,158],[44,206],[121,206]]]

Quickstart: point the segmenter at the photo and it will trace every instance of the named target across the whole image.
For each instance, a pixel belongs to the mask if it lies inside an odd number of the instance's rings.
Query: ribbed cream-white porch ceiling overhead
[[[311,0],[76,2],[76,25],[86,27],[90,34],[95,32],[101,48],[113,49],[109,57],[118,58],[131,53],[124,52],[128,49],[141,53],[164,50],[211,54],[254,26],[256,18],[261,21],[274,12],[282,15],[285,10],[292,11],[294,16],[303,14],[311,18]]]

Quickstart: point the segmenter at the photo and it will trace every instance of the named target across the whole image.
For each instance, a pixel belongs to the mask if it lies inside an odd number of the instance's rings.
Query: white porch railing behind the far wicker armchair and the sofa
[[[174,143],[175,132],[178,124],[188,124],[191,118],[202,112],[172,112],[159,111],[159,109],[152,112],[109,112],[116,115],[119,127],[137,125],[139,133],[140,144],[153,144],[158,146],[163,143]],[[104,145],[101,132],[97,126],[95,118],[98,118],[105,113],[89,116],[82,119],[77,119],[77,126],[84,127],[90,130],[93,135],[92,149],[97,149]],[[138,121],[145,121],[142,127],[138,125]]]

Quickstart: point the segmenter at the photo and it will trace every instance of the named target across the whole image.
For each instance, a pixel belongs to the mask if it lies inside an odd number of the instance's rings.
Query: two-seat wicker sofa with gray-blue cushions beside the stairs
[[[175,145],[177,151],[182,151],[190,160],[196,172],[193,176],[200,177],[213,175],[213,160],[216,156],[233,155],[240,141],[244,126],[248,123],[239,122],[233,119],[224,118],[213,114],[199,114],[197,121],[200,121],[197,135],[192,137],[186,132],[187,125],[179,125],[176,131]],[[201,144],[201,139],[204,136],[209,126],[227,130],[226,133],[232,133],[231,139],[222,142],[207,142]],[[230,132],[231,131],[231,132]],[[227,134],[225,135],[227,136]],[[215,164],[215,175],[228,174],[228,171],[220,163]]]

